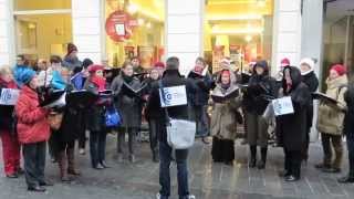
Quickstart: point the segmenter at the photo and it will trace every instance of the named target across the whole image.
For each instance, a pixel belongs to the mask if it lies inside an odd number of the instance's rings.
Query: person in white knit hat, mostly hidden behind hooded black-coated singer
[[[302,75],[302,82],[306,84],[311,93],[314,93],[319,88],[319,78],[313,71],[314,61],[312,59],[302,59],[300,62],[300,71]],[[308,134],[306,134],[306,143],[302,150],[302,158],[304,161],[309,159],[309,144],[310,144],[310,132],[312,127],[313,121],[313,101],[310,102],[310,106],[308,109]]]

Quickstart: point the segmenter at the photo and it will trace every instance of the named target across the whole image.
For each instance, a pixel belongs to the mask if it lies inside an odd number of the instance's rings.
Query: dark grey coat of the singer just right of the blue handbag
[[[121,74],[113,80],[111,85],[115,106],[123,119],[122,127],[139,128],[142,125],[142,98],[140,96],[131,97],[121,92],[123,83],[123,74]],[[134,77],[128,85],[133,90],[138,90],[142,87],[139,80],[136,77]]]

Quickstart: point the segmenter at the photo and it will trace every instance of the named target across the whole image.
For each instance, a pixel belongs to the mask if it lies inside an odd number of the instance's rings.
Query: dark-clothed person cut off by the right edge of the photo
[[[354,86],[350,85],[344,95],[347,105],[347,112],[344,118],[344,134],[346,136],[347,156],[350,161],[350,171],[347,176],[339,179],[341,184],[354,182]]]

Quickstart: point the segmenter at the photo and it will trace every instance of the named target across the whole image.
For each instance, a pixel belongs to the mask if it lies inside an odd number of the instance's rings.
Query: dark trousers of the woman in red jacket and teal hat
[[[23,145],[24,175],[28,187],[44,182],[46,143]]]

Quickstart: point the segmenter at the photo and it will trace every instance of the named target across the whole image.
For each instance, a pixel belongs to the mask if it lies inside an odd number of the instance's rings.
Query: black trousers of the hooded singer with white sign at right
[[[292,175],[296,178],[300,178],[301,175],[301,160],[302,151],[301,150],[289,150],[284,148],[285,161],[284,168],[289,175]]]

